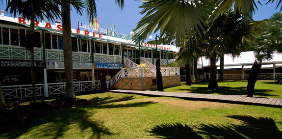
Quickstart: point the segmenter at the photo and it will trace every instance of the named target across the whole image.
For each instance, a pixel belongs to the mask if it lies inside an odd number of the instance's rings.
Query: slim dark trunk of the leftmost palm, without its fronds
[[[32,84],[32,94],[33,103],[36,103],[36,90],[35,90],[35,70],[34,70],[34,16],[30,19],[30,72],[31,72],[31,84]]]

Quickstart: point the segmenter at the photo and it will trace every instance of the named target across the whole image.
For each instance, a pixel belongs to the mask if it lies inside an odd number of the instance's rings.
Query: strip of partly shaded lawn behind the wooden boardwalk
[[[218,82],[219,90],[207,89],[207,82],[192,83],[187,86],[181,82],[180,86],[165,88],[166,92],[185,92],[201,94],[219,94],[219,95],[247,95],[247,81],[223,81]],[[274,81],[257,81],[255,85],[254,96],[282,98],[282,84]]]

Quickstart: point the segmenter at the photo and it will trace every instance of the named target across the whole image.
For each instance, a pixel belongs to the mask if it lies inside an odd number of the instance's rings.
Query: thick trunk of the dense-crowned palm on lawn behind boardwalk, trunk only
[[[216,54],[210,54],[210,75],[208,88],[218,89],[218,84],[216,81]]]

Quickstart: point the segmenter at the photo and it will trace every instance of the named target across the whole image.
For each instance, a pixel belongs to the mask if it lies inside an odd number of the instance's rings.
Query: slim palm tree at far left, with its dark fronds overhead
[[[36,91],[35,91],[35,76],[34,76],[34,20],[41,20],[47,18],[53,21],[59,17],[60,9],[58,0],[6,0],[7,7],[6,11],[10,14],[16,13],[21,15],[30,21],[30,44],[26,45],[26,49],[30,52],[30,63],[31,63],[31,83],[33,92],[33,102],[36,102]]]

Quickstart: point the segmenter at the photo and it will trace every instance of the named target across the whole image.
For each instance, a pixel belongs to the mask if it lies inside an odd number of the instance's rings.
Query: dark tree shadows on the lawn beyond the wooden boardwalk
[[[217,90],[211,90],[207,87],[191,87],[191,89],[179,89],[181,91],[189,91],[191,93],[198,94],[220,94],[220,95],[247,95],[247,87],[228,87],[228,86],[219,86]],[[278,96],[274,94],[269,94],[273,90],[270,89],[255,89],[254,95],[257,96]]]

